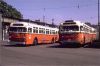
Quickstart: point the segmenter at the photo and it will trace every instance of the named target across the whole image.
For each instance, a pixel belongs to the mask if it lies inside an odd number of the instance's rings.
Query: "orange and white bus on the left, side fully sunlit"
[[[58,27],[32,22],[15,22],[9,27],[10,44],[37,45],[58,41]]]

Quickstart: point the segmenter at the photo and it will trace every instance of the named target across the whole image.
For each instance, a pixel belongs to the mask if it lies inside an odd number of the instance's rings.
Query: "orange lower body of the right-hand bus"
[[[75,41],[80,44],[85,44],[85,43],[89,43],[89,42],[95,40],[96,34],[88,34],[88,33],[77,33],[77,34],[72,34],[72,35],[61,34],[59,36],[59,39],[60,39],[60,41],[64,40],[65,42],[67,42],[67,40],[70,39],[70,41],[72,41],[72,42]]]

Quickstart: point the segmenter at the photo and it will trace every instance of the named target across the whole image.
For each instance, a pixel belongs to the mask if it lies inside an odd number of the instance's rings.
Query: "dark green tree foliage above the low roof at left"
[[[0,0],[0,12],[4,17],[11,17],[11,18],[23,18],[22,14],[13,8],[11,5],[7,4],[3,0]]]

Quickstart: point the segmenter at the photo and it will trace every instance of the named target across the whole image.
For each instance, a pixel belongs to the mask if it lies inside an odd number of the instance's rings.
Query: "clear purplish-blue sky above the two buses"
[[[59,25],[65,20],[97,24],[98,0],[4,0],[20,11],[24,19]]]

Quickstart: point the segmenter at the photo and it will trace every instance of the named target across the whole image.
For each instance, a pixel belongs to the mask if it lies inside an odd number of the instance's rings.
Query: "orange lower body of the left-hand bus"
[[[24,39],[21,42],[25,42],[25,44],[33,44],[35,38],[37,38],[38,43],[51,43],[52,40],[54,42],[58,41],[58,35],[48,35],[48,34],[33,34],[33,33],[11,33],[10,40],[19,42],[21,39]],[[19,39],[19,40],[16,40]]]

